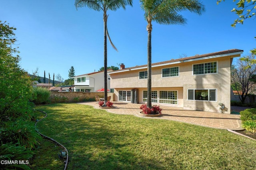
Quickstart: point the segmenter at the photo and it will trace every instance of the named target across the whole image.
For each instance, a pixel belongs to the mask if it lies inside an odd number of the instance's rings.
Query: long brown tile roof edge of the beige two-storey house
[[[207,53],[207,54],[202,54],[202,55],[194,55],[192,57],[184,57],[184,58],[179,58],[179,59],[171,59],[171,60],[168,60],[168,61],[162,61],[162,62],[158,62],[158,63],[152,63],[152,66],[160,65],[160,64],[165,64],[165,63],[173,63],[173,62],[176,62],[176,61],[186,61],[186,60],[189,60],[189,59],[197,59],[197,58],[202,58],[202,57],[210,57],[210,56],[214,56],[214,55],[223,55],[223,54],[243,52],[243,51],[244,50],[241,50],[241,49],[228,49],[228,50],[225,50],[225,51],[218,51],[218,52],[214,52],[214,53]],[[112,73],[117,72],[117,71],[122,71],[122,70],[140,68],[140,67],[147,67],[147,65],[128,67],[128,68],[124,68],[124,69],[121,69],[121,70],[119,69],[119,70],[116,70],[116,71],[112,71]]]

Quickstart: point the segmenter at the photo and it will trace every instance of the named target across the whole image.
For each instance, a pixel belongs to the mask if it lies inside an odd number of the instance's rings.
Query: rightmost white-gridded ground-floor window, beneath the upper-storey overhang
[[[178,105],[178,91],[159,91],[159,103]]]

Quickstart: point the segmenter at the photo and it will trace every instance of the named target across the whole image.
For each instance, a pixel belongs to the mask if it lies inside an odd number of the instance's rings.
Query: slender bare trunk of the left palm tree
[[[106,12],[103,14],[103,20],[104,20],[104,105],[106,106],[106,102],[108,101],[108,77],[107,77],[107,71],[108,71],[108,61],[107,61],[107,19],[108,16]]]

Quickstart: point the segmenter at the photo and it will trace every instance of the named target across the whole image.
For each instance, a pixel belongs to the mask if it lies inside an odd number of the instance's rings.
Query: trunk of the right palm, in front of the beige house
[[[152,24],[148,23],[148,89],[147,89],[147,107],[152,108],[151,104],[151,32],[152,32]]]

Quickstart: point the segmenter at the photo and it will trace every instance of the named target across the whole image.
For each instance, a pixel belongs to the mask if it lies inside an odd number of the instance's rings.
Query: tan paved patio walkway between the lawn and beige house
[[[96,101],[79,103],[83,105],[91,105],[94,108],[99,108]],[[140,117],[140,106],[142,104],[113,102],[113,109],[104,109],[110,113],[121,115],[134,115]],[[161,106],[162,115],[160,117],[143,117],[144,119],[166,119],[172,121],[180,121],[191,123],[204,127],[241,130],[240,115],[230,115],[223,113],[212,113],[204,111],[190,111],[178,107]]]

